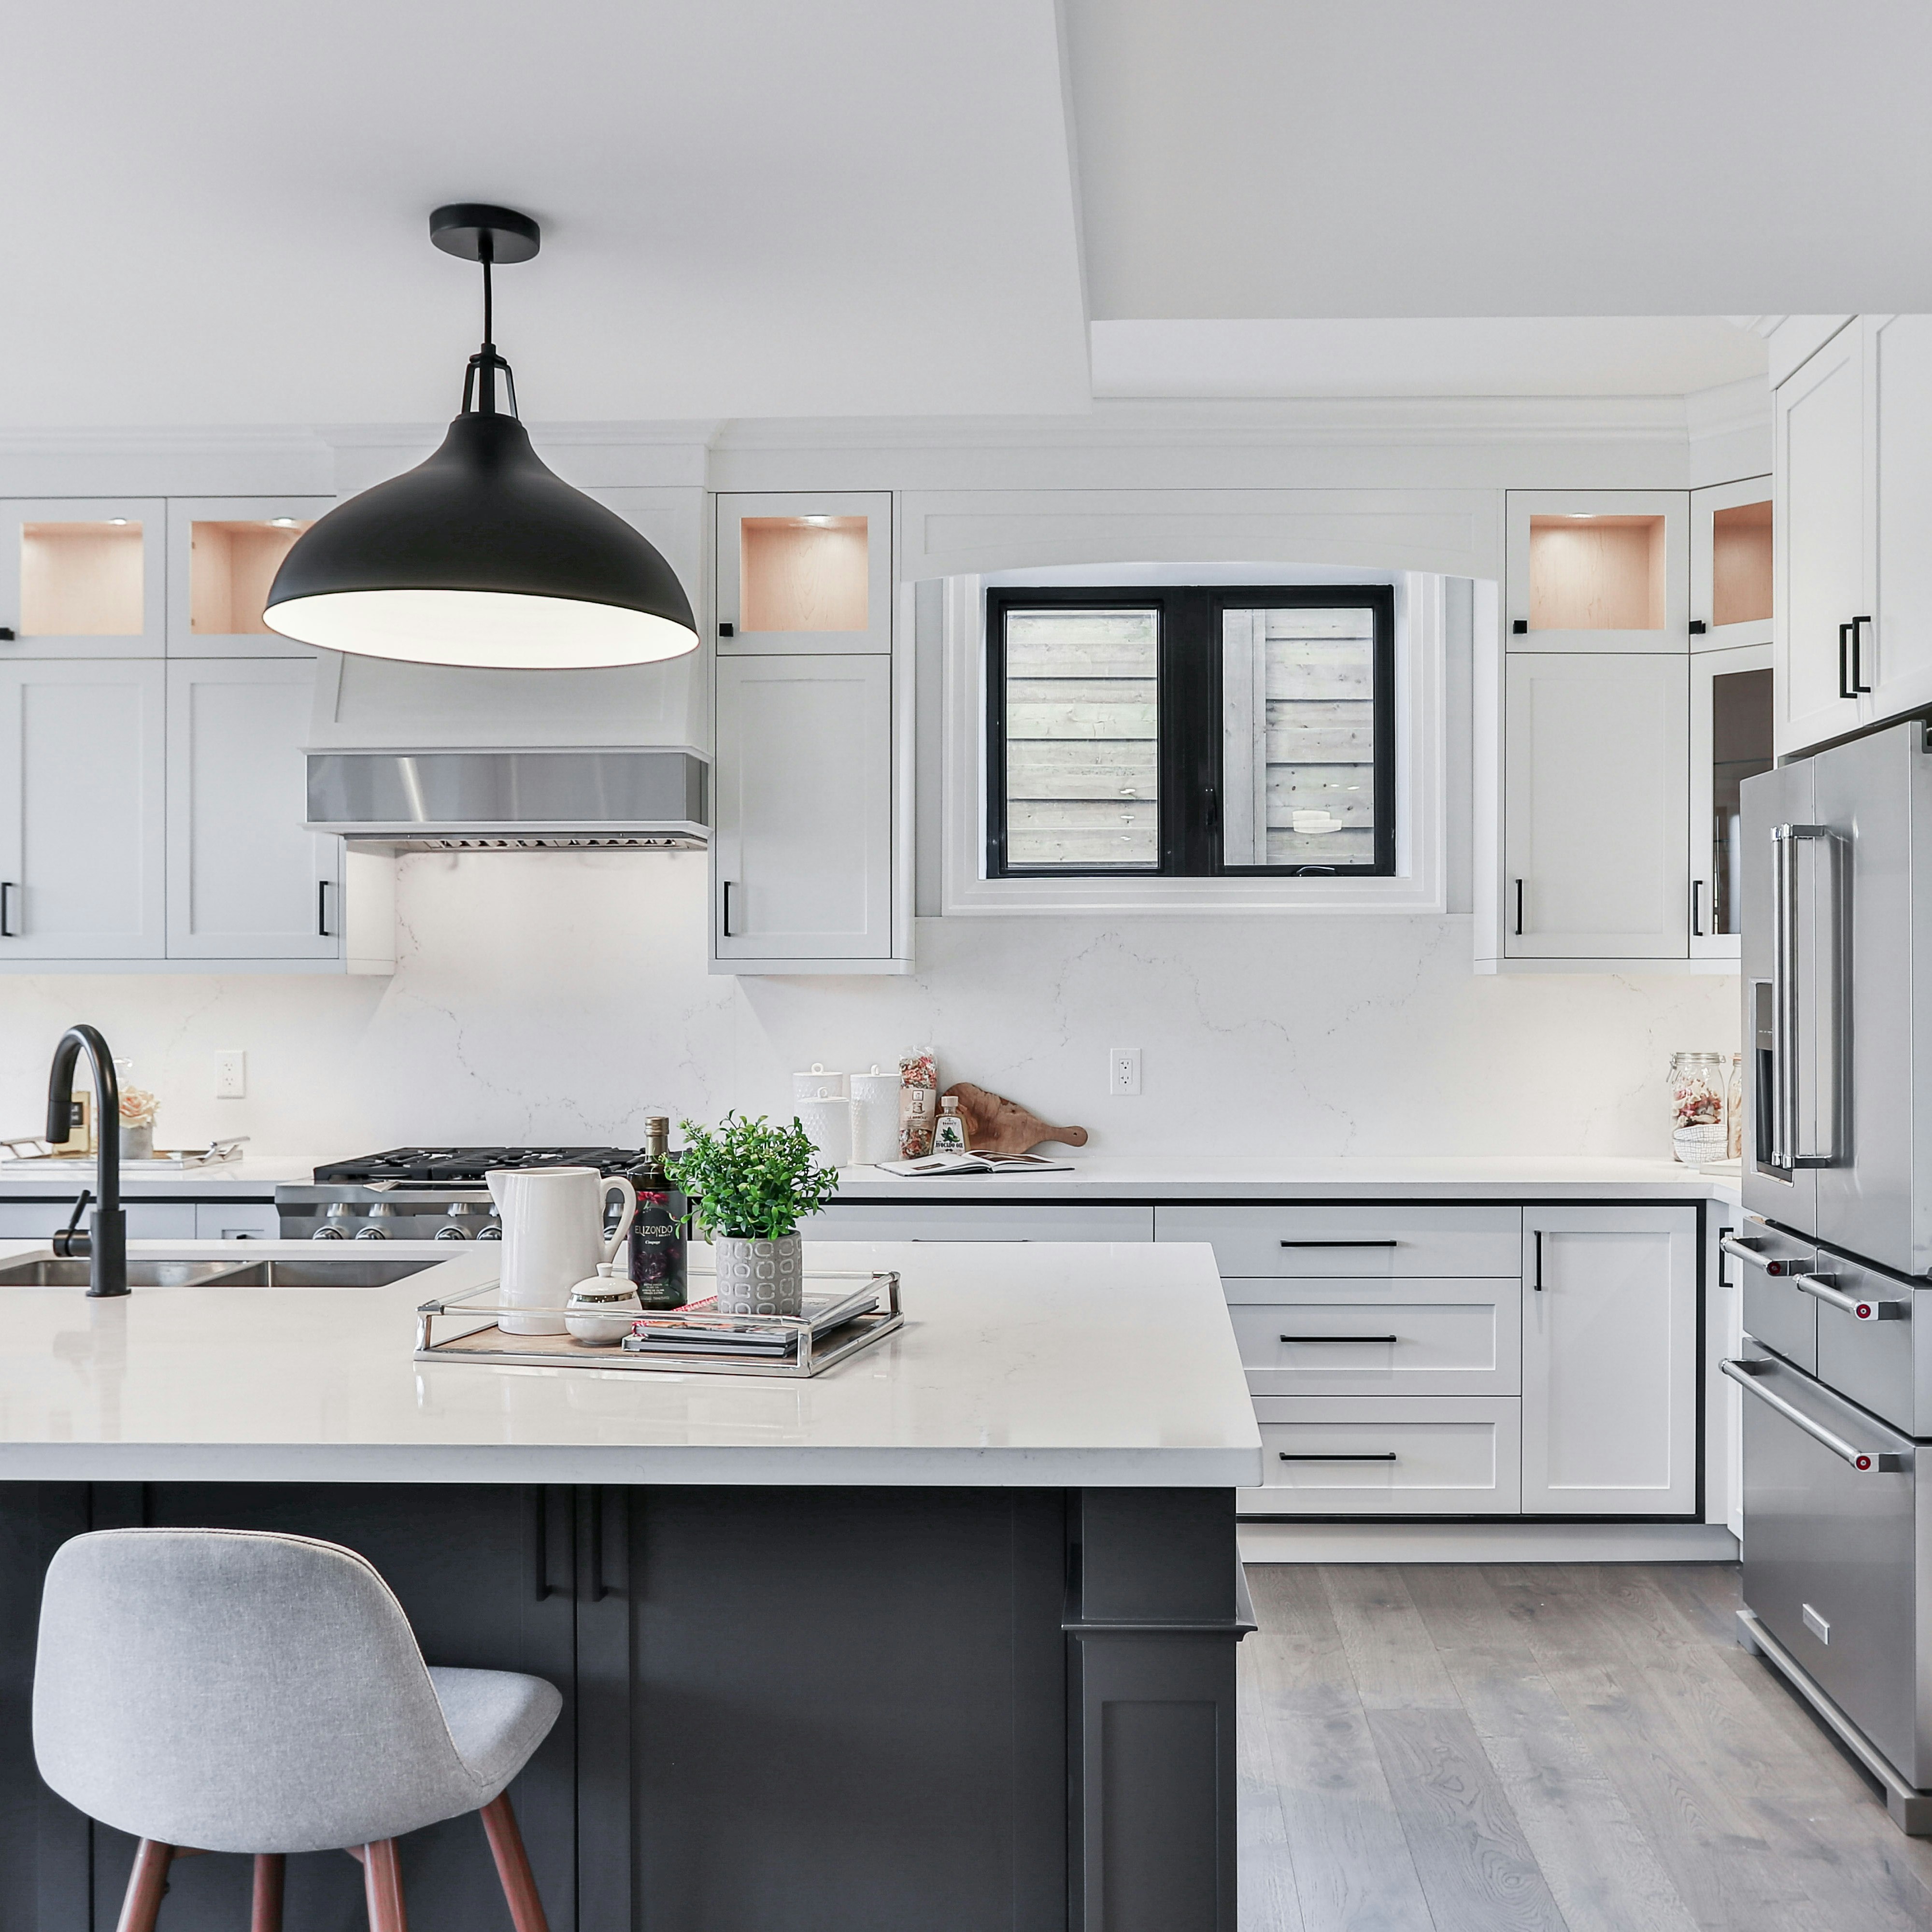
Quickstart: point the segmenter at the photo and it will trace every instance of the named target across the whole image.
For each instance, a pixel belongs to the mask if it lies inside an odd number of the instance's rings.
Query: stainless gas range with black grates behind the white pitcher
[[[390,1148],[315,1169],[274,1190],[284,1240],[502,1240],[493,1167],[628,1173],[641,1148]]]

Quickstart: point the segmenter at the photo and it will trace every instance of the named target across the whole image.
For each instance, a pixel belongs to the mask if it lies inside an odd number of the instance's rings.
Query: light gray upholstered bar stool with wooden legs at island
[[[33,1748],[70,1804],[141,1839],[120,1932],[153,1932],[168,1864],[255,1857],[255,1932],[282,1861],[361,1859],[371,1932],[404,1932],[396,1839],[481,1810],[516,1932],[543,1905],[504,1787],[562,1698],[541,1677],[431,1669],[352,1549],[245,1530],[100,1530],[54,1555]]]

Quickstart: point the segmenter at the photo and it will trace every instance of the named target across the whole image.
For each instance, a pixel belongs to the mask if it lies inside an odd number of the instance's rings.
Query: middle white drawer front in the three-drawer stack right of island
[[[1517,1395],[1522,1283],[1229,1281],[1256,1395]]]

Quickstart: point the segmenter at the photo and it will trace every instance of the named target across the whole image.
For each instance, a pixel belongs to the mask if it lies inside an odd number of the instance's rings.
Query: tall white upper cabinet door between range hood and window
[[[723,657],[713,970],[893,970],[893,663]]]

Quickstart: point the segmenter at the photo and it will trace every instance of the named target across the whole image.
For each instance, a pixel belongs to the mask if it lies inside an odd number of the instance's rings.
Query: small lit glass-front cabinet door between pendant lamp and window
[[[893,649],[893,497],[719,497],[721,657]]]

